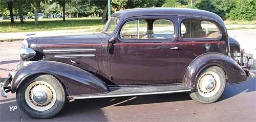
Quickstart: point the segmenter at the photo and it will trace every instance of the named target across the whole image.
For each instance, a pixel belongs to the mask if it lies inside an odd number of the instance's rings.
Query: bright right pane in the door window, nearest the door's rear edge
[[[153,22],[154,38],[172,38],[174,36],[173,22],[167,19],[158,19]]]

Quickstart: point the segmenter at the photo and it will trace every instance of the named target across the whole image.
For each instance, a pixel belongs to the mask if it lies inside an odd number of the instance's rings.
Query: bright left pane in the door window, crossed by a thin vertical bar
[[[132,20],[122,27],[120,37],[124,39],[141,39],[147,32],[147,21],[144,19]]]

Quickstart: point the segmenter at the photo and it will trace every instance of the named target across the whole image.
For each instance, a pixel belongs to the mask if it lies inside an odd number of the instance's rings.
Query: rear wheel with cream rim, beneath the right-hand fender
[[[212,66],[199,75],[196,87],[189,95],[200,103],[214,103],[221,97],[225,86],[225,72],[221,67]]]

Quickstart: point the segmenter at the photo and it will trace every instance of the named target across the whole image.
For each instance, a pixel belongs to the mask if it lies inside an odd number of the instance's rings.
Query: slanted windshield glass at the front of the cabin
[[[117,17],[110,17],[110,19],[106,22],[103,32],[111,35],[114,32],[118,22],[119,19]]]

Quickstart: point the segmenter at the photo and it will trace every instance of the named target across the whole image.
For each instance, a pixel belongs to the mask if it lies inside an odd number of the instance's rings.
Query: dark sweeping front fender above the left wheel
[[[26,78],[36,74],[53,75],[65,85],[69,95],[109,92],[105,83],[88,71],[60,62],[36,61],[17,71],[11,83],[12,93],[26,81]]]

